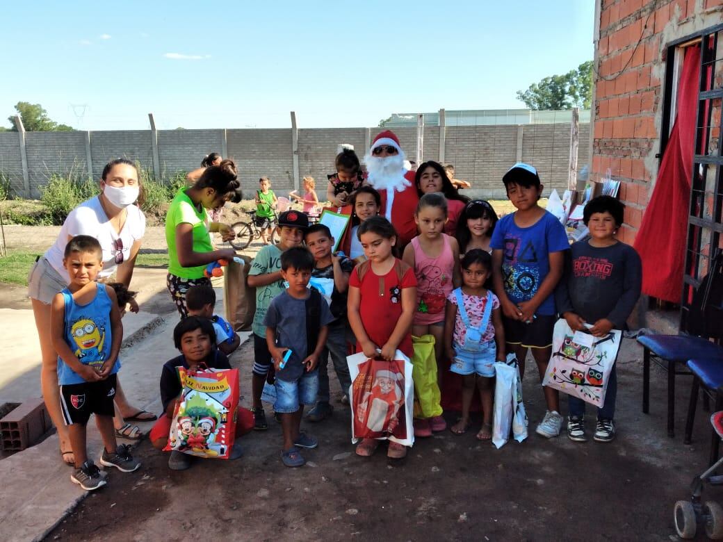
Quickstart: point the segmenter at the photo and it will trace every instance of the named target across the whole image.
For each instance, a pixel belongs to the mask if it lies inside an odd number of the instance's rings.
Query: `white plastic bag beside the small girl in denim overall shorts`
[[[504,446],[510,438],[522,442],[527,438],[527,414],[522,402],[522,381],[517,359],[508,354],[507,363],[495,363],[495,408],[492,424],[492,444],[497,449]]]

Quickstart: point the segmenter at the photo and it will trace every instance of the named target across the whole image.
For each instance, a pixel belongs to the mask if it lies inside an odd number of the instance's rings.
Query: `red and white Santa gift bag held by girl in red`
[[[412,365],[397,350],[393,361],[371,359],[364,353],[347,356],[351,375],[351,442],[389,439],[414,444]]]

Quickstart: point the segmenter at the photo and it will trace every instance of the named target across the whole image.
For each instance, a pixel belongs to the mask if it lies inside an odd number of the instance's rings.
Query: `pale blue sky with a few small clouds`
[[[0,120],[40,103],[79,129],[376,126],[522,108],[592,59],[594,1],[4,3]],[[29,13],[32,12],[32,13]],[[2,122],[6,125],[7,123]]]

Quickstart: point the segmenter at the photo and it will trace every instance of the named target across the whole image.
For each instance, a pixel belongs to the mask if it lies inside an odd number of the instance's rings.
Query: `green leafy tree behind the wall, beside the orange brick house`
[[[592,61],[583,62],[563,75],[544,77],[517,98],[530,109],[589,109],[592,100]]]

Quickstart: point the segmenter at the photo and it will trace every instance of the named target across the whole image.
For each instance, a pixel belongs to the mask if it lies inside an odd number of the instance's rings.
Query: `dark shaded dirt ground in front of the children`
[[[641,350],[630,340],[623,348],[618,436],[609,444],[534,434],[544,406],[528,363],[532,434],[522,444],[497,450],[477,442],[477,421],[463,436],[445,431],[418,439],[401,464],[388,463],[383,446],[364,459],[349,442],[348,408],[336,402],[332,418],[304,423],[320,446],[304,452],[303,468],[281,464],[281,428],[270,416],[268,431],[241,438],[244,457],[232,463],[197,461],[171,472],[168,456],[144,441],[136,451],[142,468],[111,473],[108,486],[90,494],[48,539],[675,540],[672,507],[706,464],[708,416],[698,414],[694,444],[684,446],[690,384],[682,380],[678,435],[668,439],[662,371],[654,371],[651,415],[643,415]],[[251,342],[232,363],[241,367],[241,403],[249,405]],[[333,374],[332,384],[338,393]],[[448,413],[448,421],[454,418]],[[593,421],[589,411],[589,429]],[[716,490],[708,496],[722,497]]]

